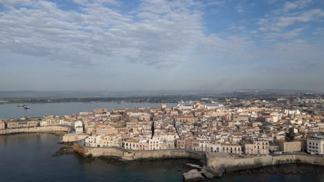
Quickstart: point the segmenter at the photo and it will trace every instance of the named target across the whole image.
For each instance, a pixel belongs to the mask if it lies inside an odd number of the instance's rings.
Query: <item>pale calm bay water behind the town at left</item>
[[[25,110],[18,107],[18,103],[0,104],[0,119],[17,117],[44,117],[46,115],[78,114],[84,111],[93,111],[96,108],[123,109],[123,108],[159,108],[163,103],[132,103],[132,102],[72,102],[72,103],[24,103],[30,107]],[[167,107],[177,103],[165,103]]]

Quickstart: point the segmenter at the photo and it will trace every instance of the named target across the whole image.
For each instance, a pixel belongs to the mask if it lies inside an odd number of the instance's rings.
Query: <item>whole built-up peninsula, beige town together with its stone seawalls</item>
[[[159,108],[98,108],[65,116],[2,119],[0,134],[64,131],[86,159],[195,159],[185,181],[269,165],[324,165],[321,97],[201,98]]]

